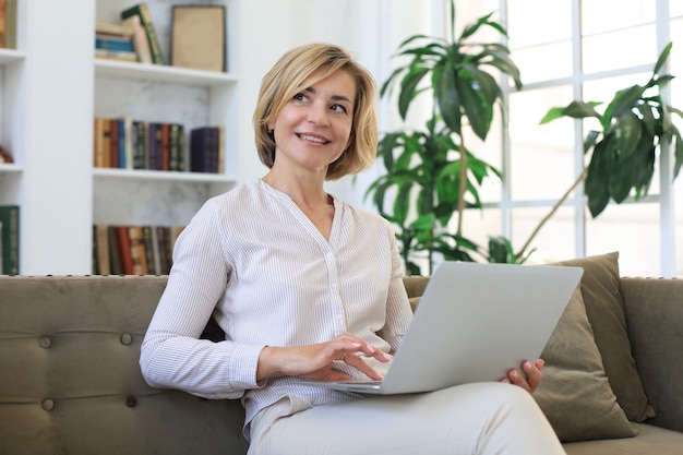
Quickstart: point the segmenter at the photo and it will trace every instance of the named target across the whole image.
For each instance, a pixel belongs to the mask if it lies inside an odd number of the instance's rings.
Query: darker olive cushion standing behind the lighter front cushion
[[[652,417],[655,411],[648,405],[628,340],[619,287],[619,253],[579,258],[555,265],[584,268],[580,287],[586,313],[616,400],[632,421],[642,422]]]

